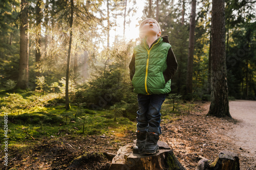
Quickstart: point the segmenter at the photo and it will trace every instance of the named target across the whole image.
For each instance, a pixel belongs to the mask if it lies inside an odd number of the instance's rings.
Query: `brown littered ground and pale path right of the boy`
[[[241,169],[256,169],[256,102],[231,101],[229,107],[233,119],[205,116],[209,105],[209,102],[198,104],[198,111],[165,124],[166,131],[161,140],[173,148],[187,169],[195,169],[199,156],[212,160],[222,150],[237,153]]]

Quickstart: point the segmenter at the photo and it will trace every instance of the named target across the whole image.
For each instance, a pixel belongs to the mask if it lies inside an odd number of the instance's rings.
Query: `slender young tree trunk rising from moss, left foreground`
[[[74,0],[71,0],[71,16],[70,16],[70,38],[69,38],[69,52],[68,52],[68,62],[67,62],[67,72],[66,72],[66,110],[70,109],[69,105],[69,72],[70,72],[70,56],[71,56],[71,46],[72,46],[72,36],[73,36],[73,14],[74,14]]]

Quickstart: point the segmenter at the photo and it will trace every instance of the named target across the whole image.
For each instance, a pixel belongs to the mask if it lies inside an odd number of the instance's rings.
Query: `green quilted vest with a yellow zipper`
[[[138,94],[165,94],[170,92],[170,80],[165,83],[163,71],[170,46],[160,37],[149,49],[145,39],[134,47],[135,74],[132,79]]]

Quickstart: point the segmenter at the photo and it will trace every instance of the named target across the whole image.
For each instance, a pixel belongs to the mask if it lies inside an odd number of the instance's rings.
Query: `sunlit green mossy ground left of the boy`
[[[136,123],[126,117],[117,117],[114,120],[111,111],[93,111],[77,107],[66,111],[65,106],[53,106],[49,108],[35,107],[30,112],[13,112],[8,114],[8,136],[10,143],[26,140],[40,140],[45,136],[63,135],[102,135],[111,134],[111,131],[124,133],[127,130],[135,130]],[[0,117],[0,126],[4,126],[3,114]],[[0,138],[4,138],[4,129],[0,129]],[[0,139],[0,140],[1,140]],[[3,141],[1,141],[3,142]]]

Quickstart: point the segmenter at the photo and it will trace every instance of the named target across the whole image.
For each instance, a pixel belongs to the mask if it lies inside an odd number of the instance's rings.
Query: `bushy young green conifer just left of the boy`
[[[74,103],[86,103],[88,108],[101,110],[116,103],[136,102],[136,94],[130,85],[126,66],[129,53],[123,46],[102,54],[104,65],[98,66],[92,79],[79,88],[73,99]],[[109,57],[109,58],[107,58]]]

